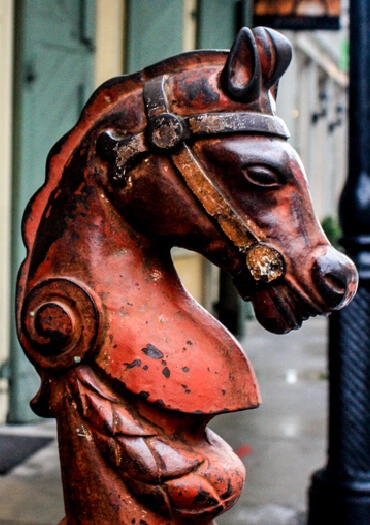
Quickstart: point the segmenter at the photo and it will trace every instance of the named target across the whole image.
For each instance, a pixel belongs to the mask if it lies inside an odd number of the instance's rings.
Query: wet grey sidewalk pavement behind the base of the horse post
[[[239,502],[217,525],[304,525],[310,475],[325,464],[326,326],[306,321],[287,336],[248,321],[243,347],[262,391],[257,409],[217,416],[210,427],[246,466]],[[2,426],[0,432],[55,437],[55,424]],[[0,476],[0,525],[57,525],[64,515],[56,441]]]

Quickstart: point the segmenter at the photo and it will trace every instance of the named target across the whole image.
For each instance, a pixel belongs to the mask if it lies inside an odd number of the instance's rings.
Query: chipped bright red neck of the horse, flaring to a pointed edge
[[[95,298],[101,322],[89,361],[167,409],[214,414],[258,405],[240,346],[184,290],[169,247],[130,226],[98,189],[77,197],[46,250],[40,240],[44,262],[31,285],[47,272]],[[60,207],[49,213],[54,225]]]

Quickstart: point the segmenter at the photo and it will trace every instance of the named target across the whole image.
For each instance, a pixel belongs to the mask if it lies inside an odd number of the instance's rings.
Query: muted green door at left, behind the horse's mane
[[[13,282],[25,256],[23,210],[42,185],[51,146],[71,128],[93,89],[95,0],[16,2]],[[12,309],[12,311],[14,311]],[[8,421],[35,419],[38,377],[11,330]]]

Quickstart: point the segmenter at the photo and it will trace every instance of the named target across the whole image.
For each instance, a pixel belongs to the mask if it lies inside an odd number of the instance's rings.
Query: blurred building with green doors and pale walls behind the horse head
[[[21,217],[44,180],[51,146],[93,89],[165,57],[229,48],[253,24],[252,0],[1,0],[0,2],[0,422],[26,423],[38,387],[14,330],[14,282],[24,257]],[[347,170],[348,13],[339,31],[286,31],[294,59],[277,113],[306,166],[319,219],[335,230]],[[225,276],[175,249],[185,286],[238,332],[243,317]]]

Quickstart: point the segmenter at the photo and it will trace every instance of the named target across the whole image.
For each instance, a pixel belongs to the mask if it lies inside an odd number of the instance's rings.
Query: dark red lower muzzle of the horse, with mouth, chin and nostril
[[[252,302],[257,320],[269,332],[287,334],[298,330],[309,317],[329,315],[346,306],[355,295],[358,275],[352,261],[330,245],[316,252],[313,263],[305,265],[302,258],[300,280],[290,268],[269,284],[252,283],[250,277],[245,277],[246,272],[234,279],[240,295]]]

